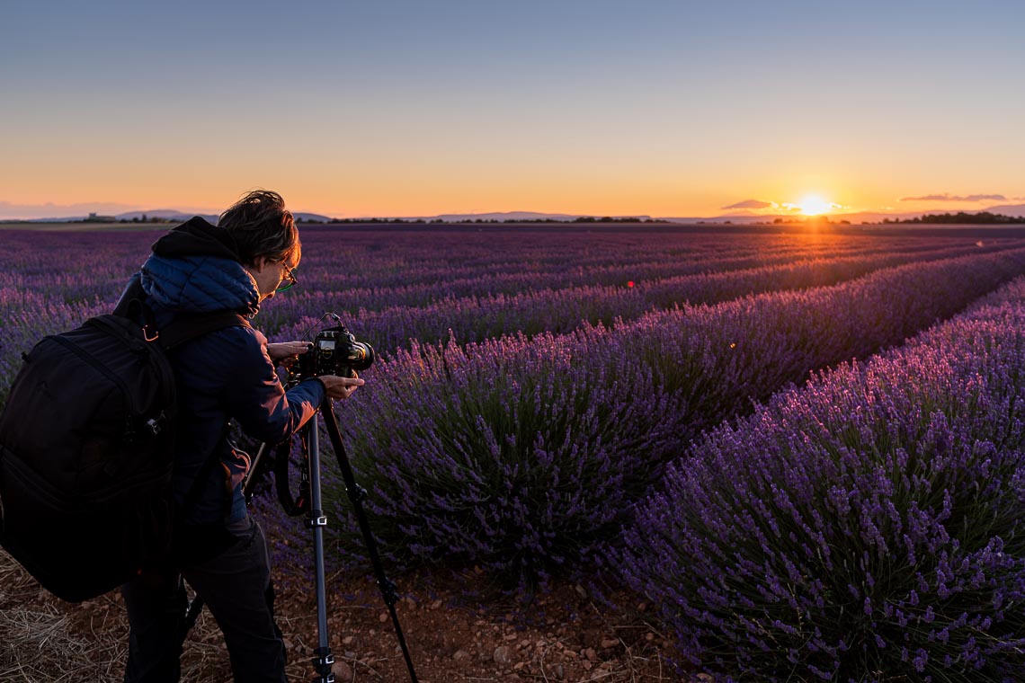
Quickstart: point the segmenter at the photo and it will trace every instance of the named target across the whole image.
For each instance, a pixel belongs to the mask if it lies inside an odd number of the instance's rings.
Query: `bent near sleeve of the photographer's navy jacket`
[[[266,338],[256,330],[224,331],[224,405],[249,436],[268,443],[290,437],[324,401],[318,380],[300,382],[287,392],[266,353]]]

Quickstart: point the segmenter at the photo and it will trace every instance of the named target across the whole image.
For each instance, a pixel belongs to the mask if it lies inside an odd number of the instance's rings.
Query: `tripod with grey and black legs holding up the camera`
[[[345,482],[345,493],[353,504],[356,519],[360,524],[360,531],[363,533],[363,539],[367,545],[367,552],[370,555],[370,562],[373,565],[377,587],[380,589],[381,596],[384,598],[384,604],[387,605],[388,612],[392,614],[392,624],[395,626],[399,645],[402,647],[402,654],[406,659],[406,667],[409,669],[410,680],[413,683],[417,683],[416,671],[413,669],[413,659],[409,654],[409,647],[406,645],[406,639],[402,634],[402,627],[399,625],[399,615],[395,609],[395,603],[399,599],[396,593],[397,587],[395,582],[384,573],[384,567],[377,553],[377,543],[374,541],[373,533],[370,530],[370,521],[363,510],[363,501],[367,498],[367,490],[356,483],[356,476],[348,462],[348,456],[345,455],[345,446],[341,441],[341,432],[338,429],[338,422],[335,419],[334,408],[330,398],[324,399],[319,414],[324,420],[324,426],[327,428],[335,459],[338,461],[338,467],[341,470],[342,480]],[[302,481],[298,498],[293,500],[291,493],[288,492],[289,441],[279,444],[276,457],[276,479],[278,497],[286,511],[289,514],[301,514],[304,512],[306,514],[306,524],[314,532],[318,647],[314,650],[316,656],[313,658],[313,665],[318,675],[313,679],[313,683],[334,683],[334,674],[331,673],[331,668],[334,665],[334,655],[331,652],[331,644],[328,640],[327,590],[324,574],[324,528],[327,526],[327,516],[324,514],[321,498],[320,432],[317,429],[317,417],[315,416],[300,430],[303,460],[300,466]],[[255,483],[253,474],[258,471],[257,468],[266,450],[266,443],[260,444],[259,451],[257,451],[256,457],[249,468],[249,474],[243,483],[243,493],[247,501],[252,496],[252,488]],[[189,605],[186,613],[182,640],[184,639],[184,635],[195,626],[196,620],[199,618],[202,609],[203,599],[196,596]]]

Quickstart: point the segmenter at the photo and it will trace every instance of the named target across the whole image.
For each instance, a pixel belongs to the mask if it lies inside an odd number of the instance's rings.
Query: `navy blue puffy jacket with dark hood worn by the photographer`
[[[158,327],[179,312],[252,317],[259,310],[256,283],[239,262],[231,234],[199,217],[158,240],[135,281]],[[199,495],[186,521],[222,525],[245,515],[240,483],[250,466],[249,456],[228,438],[229,421],[259,441],[278,443],[315,415],[324,385],[310,380],[286,392],[266,353],[266,338],[251,328],[208,333],[175,347],[169,357],[178,402],[175,498],[184,503],[203,464],[217,454],[219,467],[207,468],[197,482]]]

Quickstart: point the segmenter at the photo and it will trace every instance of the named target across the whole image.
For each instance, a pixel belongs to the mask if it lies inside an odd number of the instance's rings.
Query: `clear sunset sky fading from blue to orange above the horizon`
[[[1020,204],[1023,31],[1011,0],[5,0],[0,218]]]

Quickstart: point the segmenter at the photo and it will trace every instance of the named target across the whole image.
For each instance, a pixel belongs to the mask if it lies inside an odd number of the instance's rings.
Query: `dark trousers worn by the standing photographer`
[[[228,528],[238,542],[212,559],[180,569],[144,572],[121,587],[131,629],[126,683],[176,683],[181,675],[178,658],[187,598],[179,571],[224,634],[236,683],[287,680],[263,530],[250,517]]]

